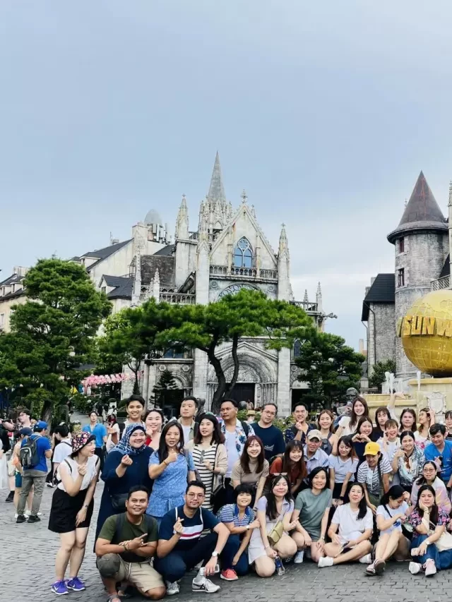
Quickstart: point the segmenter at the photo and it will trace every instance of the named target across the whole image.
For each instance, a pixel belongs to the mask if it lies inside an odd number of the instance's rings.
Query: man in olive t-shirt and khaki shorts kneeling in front
[[[157,549],[157,521],[145,514],[149,491],[137,485],[129,491],[126,512],[107,518],[96,541],[97,569],[110,602],[121,602],[116,589],[124,579],[146,598],[160,600],[165,584],[150,560]]]

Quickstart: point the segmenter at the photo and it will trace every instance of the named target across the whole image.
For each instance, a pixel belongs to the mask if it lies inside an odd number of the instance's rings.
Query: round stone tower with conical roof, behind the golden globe
[[[396,251],[395,322],[431,289],[448,254],[448,225],[422,171],[417,178],[398,227],[388,234]],[[389,319],[389,318],[388,318]],[[396,337],[397,377],[415,378],[417,368]]]

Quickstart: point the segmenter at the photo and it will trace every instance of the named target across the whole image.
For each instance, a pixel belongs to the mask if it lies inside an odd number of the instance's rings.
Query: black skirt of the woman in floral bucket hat
[[[49,531],[53,531],[54,533],[70,533],[76,529],[88,528],[93,516],[94,500],[91,500],[88,506],[85,520],[76,526],[77,514],[83,508],[85,495],[86,489],[82,489],[77,495],[71,496],[66,491],[57,488],[52,498]]]

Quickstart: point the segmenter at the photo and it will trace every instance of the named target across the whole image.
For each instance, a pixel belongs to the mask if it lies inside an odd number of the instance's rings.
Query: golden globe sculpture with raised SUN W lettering
[[[433,291],[417,299],[398,321],[397,334],[420,371],[452,376],[452,291]]]

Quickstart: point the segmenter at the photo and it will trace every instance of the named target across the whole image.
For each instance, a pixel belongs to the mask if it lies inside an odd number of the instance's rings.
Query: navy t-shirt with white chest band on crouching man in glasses
[[[174,531],[174,523],[178,518],[183,519],[182,525],[184,526],[184,530],[182,531],[182,536],[179,538],[179,541],[173,548],[174,551],[190,550],[199,541],[204,529],[212,530],[220,522],[215,518],[212,512],[204,510],[204,508],[200,508],[193,518],[189,518],[184,514],[184,506],[178,506],[177,508],[169,510],[162,518],[160,529],[158,531],[159,539],[168,540],[172,538],[176,532]]]

